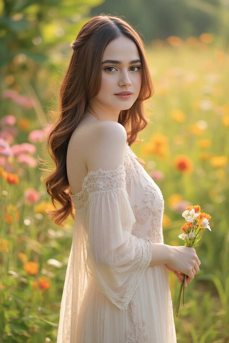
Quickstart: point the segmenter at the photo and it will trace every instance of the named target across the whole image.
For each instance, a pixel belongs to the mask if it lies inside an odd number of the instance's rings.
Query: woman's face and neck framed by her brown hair
[[[120,36],[105,48],[100,91],[89,105],[99,117],[119,115],[134,104],[140,89],[141,61],[137,46]]]

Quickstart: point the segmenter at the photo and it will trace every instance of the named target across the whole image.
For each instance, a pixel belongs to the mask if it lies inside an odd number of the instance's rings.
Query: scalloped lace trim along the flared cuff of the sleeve
[[[111,302],[116,305],[120,310],[127,310],[130,299],[141,282],[141,276],[145,272],[146,268],[152,258],[153,244],[149,240],[139,239],[142,248],[141,262],[136,266],[135,271],[131,274],[129,284],[127,286],[125,295],[120,301],[115,301],[112,297],[108,297]]]

